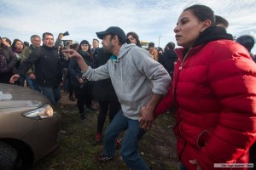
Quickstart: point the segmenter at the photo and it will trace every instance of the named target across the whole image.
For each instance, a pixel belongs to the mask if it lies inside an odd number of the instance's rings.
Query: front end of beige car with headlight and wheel
[[[38,91],[0,83],[0,169],[28,169],[59,145],[61,116]]]

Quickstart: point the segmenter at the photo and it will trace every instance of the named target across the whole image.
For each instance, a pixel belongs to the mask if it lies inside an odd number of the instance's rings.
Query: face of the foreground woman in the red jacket
[[[199,20],[190,10],[183,11],[177,20],[177,26],[174,28],[177,45],[191,48],[201,31],[204,31],[204,22]]]

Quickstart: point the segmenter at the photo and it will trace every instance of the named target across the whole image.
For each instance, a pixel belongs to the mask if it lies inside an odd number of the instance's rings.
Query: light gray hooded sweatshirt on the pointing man
[[[132,43],[122,45],[117,59],[96,69],[89,67],[83,77],[90,81],[110,78],[124,116],[132,120],[138,120],[152,94],[166,94],[171,83],[166,69],[147,50]]]

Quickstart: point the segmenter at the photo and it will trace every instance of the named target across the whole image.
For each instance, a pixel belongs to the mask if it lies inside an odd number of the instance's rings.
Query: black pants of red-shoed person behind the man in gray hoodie
[[[119,101],[99,100],[98,102],[100,105],[100,112],[97,119],[97,132],[99,133],[99,132],[102,132],[107,113],[109,114],[109,122],[111,122],[113,120],[113,117],[120,110],[121,106],[119,104]]]

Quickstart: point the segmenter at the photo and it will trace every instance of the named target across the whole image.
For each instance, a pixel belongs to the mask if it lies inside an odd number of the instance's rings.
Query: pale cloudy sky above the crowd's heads
[[[256,37],[256,0],[0,0],[0,36],[30,42],[33,34],[41,37],[49,31],[57,37],[69,31],[64,39],[92,42],[96,31],[119,26],[164,48],[167,42],[176,42],[173,28],[178,16],[195,3],[228,20],[227,31],[233,36]]]

